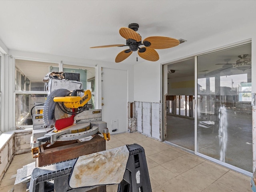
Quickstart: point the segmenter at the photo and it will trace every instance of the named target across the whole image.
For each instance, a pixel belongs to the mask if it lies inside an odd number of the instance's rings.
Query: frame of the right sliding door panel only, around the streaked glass
[[[209,54],[209,53],[213,53],[213,52],[217,52],[217,51],[220,51],[220,50],[225,50],[225,49],[228,49],[228,48],[232,48],[232,47],[236,47],[236,46],[240,46],[240,45],[244,45],[244,44],[248,44],[248,43],[252,43],[252,41],[244,41],[244,42],[241,42],[239,44],[232,44],[230,46],[226,46],[226,47],[223,47],[223,48],[219,48],[219,49],[216,49],[216,50],[212,50],[212,51],[209,51],[209,52],[204,52],[202,54],[198,54],[198,55],[195,55],[195,150],[194,150],[194,153],[202,158],[205,158],[207,160],[210,160],[212,162],[215,162],[217,164],[220,164],[222,166],[225,166],[227,168],[230,168],[232,170],[235,170],[237,172],[240,172],[242,174],[245,174],[245,175],[248,175],[250,177],[252,177],[252,173],[251,172],[248,172],[246,170],[243,170],[241,168],[238,168],[236,166],[233,166],[231,164],[228,164],[228,163],[225,163],[225,162],[222,162],[220,160],[217,160],[215,158],[212,158],[210,156],[206,156],[202,153],[199,153],[198,152],[198,129],[197,129],[197,126],[198,126],[198,94],[197,94],[197,84],[198,84],[198,68],[197,68],[197,58],[198,56],[202,56],[202,55],[205,55],[205,54]],[[253,51],[252,51],[253,52]],[[252,65],[252,74],[253,74],[253,70],[254,70],[254,65]],[[252,77],[252,94],[253,94],[253,90],[256,90],[256,82],[255,82],[255,79]],[[255,94],[255,93],[254,93]],[[255,103],[256,104],[256,103]],[[253,152],[253,170],[255,170],[255,167],[256,167],[256,106],[253,106],[252,108],[252,143],[253,143],[253,146],[252,146],[252,152]]]

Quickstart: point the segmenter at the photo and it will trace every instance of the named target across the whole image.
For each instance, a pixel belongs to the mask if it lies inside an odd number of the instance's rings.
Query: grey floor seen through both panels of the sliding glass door
[[[252,116],[227,112],[225,161],[238,168],[252,170]],[[217,115],[218,116],[218,115]],[[239,116],[239,117],[238,117]],[[194,151],[194,119],[167,115],[167,141]],[[198,152],[220,159],[219,122],[209,128],[198,127]],[[240,154],[240,155],[237,155]]]

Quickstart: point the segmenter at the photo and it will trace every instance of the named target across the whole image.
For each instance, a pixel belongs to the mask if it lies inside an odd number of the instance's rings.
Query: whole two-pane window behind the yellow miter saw
[[[95,68],[63,65],[63,72],[79,73],[83,89],[90,89],[92,98],[88,102],[89,109],[95,109]],[[59,72],[59,64],[15,60],[15,98],[16,126],[32,125],[32,114],[42,108],[47,97],[47,90],[42,79],[49,72]]]

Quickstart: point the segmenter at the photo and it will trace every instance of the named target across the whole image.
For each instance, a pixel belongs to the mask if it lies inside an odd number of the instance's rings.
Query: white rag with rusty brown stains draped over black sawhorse
[[[126,170],[129,150],[121,146],[80,156],[69,180],[71,188],[119,184]]]

